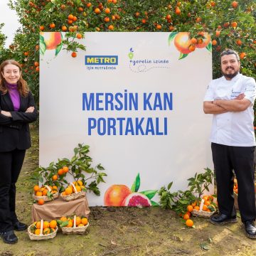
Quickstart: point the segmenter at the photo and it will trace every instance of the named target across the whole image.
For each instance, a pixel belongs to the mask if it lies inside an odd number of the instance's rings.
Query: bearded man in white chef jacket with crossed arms
[[[256,238],[253,156],[255,134],[253,104],[256,84],[239,73],[240,60],[234,50],[220,54],[223,77],[212,80],[203,102],[203,111],[213,114],[210,142],[217,183],[219,214],[210,223],[236,223],[234,174],[238,179],[238,206],[248,238]]]

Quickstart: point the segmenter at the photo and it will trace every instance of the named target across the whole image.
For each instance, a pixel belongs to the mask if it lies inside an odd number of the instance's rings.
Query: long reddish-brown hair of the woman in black
[[[2,94],[6,94],[7,87],[6,87],[6,80],[4,79],[3,73],[4,73],[4,67],[6,65],[16,65],[21,73],[21,65],[16,60],[4,60],[3,63],[1,63],[0,66],[0,92]],[[23,80],[22,73],[18,80],[18,92],[21,96],[26,97],[28,95],[29,89],[28,89],[28,83]]]

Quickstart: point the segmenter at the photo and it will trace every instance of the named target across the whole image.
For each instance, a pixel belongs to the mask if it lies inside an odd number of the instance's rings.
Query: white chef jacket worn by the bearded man
[[[253,78],[238,73],[235,78],[226,80],[221,77],[212,80],[206,91],[204,101],[233,100],[245,94],[252,104],[241,112],[213,114],[210,142],[227,146],[255,146],[253,127],[253,104],[256,97],[256,83]]]

